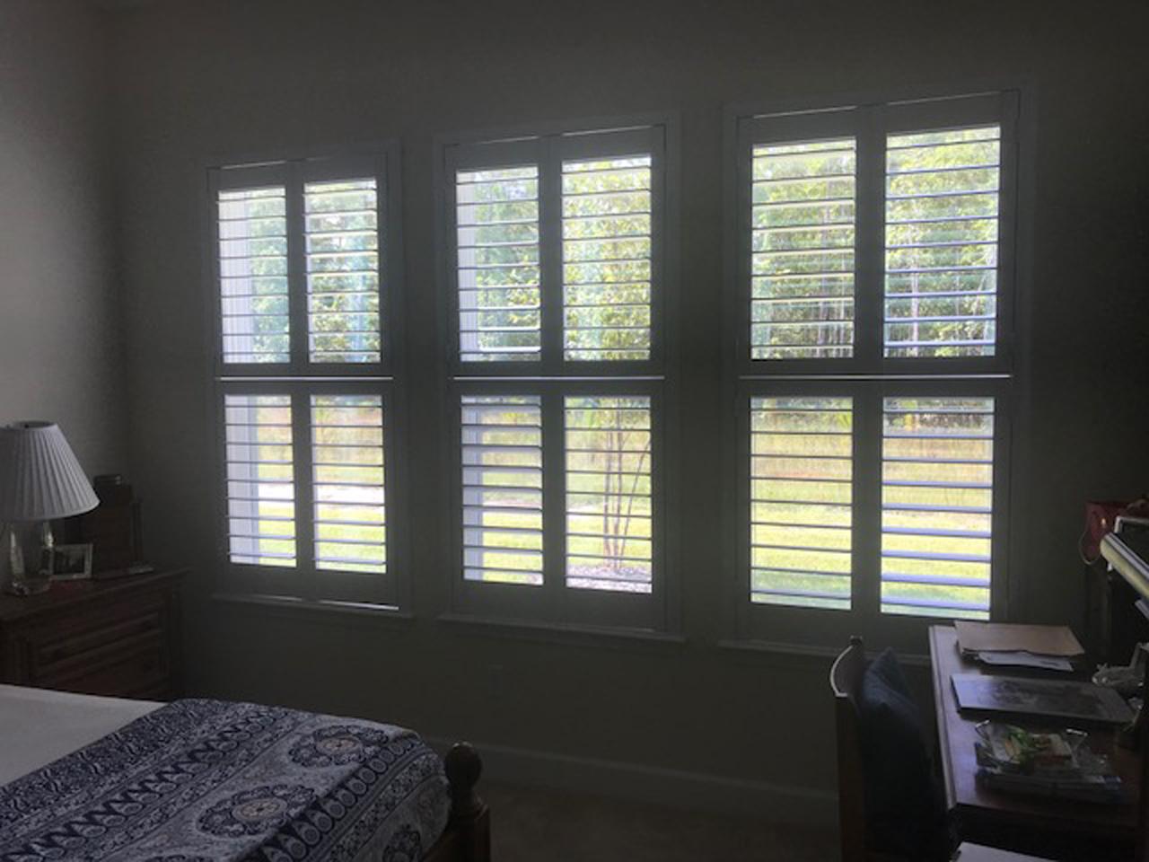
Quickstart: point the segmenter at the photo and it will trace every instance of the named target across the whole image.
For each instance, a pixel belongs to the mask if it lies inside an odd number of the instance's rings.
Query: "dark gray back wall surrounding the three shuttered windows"
[[[1012,574],[1018,610],[1077,619],[1074,541],[1088,498],[1149,487],[1143,2],[970,0],[372,3],[164,2],[114,25],[116,153],[126,261],[134,479],[147,539],[188,565],[198,691],[387,717],[508,746],[500,769],[637,764],[632,787],[762,782],[825,802],[833,786],[824,657],[718,645],[722,108],[842,92],[944,94],[987,78],[1024,90],[1031,349],[1019,359]],[[1103,10],[1102,10],[1103,9]],[[596,23],[601,22],[601,23]],[[681,468],[685,645],[554,641],[460,628],[444,609],[439,451],[415,448],[414,621],[210,601],[211,290],[202,277],[203,160],[398,137],[407,297],[433,320],[432,141],[454,130],[653,110],[681,116]],[[411,329],[409,383],[438,386],[437,333]],[[411,438],[437,440],[426,406]],[[434,479],[434,480],[432,480]],[[501,668],[492,675],[491,667]],[[500,749],[493,749],[500,751]],[[603,767],[602,763],[597,764]],[[671,780],[681,770],[722,782]],[[601,770],[600,770],[601,771]],[[643,778],[645,776],[645,778]],[[683,776],[678,775],[678,778]],[[642,782],[647,784],[643,785]],[[771,786],[755,785],[769,798]],[[808,791],[811,795],[804,794]],[[651,791],[654,793],[654,791]],[[672,791],[677,792],[677,791]],[[666,795],[663,793],[663,795]],[[701,801],[701,800],[692,800]],[[824,811],[825,806],[819,810]]]

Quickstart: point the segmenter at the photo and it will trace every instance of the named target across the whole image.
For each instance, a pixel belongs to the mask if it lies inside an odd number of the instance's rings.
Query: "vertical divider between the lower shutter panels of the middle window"
[[[542,590],[543,615],[563,616],[566,587],[566,433],[564,394],[542,393]]]

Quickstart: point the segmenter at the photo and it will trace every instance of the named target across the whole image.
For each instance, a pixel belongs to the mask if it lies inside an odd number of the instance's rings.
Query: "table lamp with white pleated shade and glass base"
[[[91,511],[100,500],[54,422],[0,428],[0,582],[9,593],[48,588],[51,521]],[[48,552],[48,553],[45,553]]]

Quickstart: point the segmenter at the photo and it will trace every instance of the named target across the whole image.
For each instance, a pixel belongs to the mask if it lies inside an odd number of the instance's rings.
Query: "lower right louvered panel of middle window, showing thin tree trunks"
[[[566,585],[649,593],[649,397],[566,397]]]

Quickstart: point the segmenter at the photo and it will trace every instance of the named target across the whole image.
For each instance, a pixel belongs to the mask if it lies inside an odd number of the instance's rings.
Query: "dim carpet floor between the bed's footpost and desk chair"
[[[826,830],[484,782],[492,862],[834,862]]]

